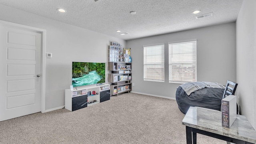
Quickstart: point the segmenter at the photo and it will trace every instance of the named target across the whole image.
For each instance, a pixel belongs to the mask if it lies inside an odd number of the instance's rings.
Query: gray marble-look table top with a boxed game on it
[[[256,143],[256,131],[245,116],[237,115],[232,126],[225,128],[222,127],[221,115],[222,112],[218,110],[190,107],[182,120],[182,124],[230,138]]]

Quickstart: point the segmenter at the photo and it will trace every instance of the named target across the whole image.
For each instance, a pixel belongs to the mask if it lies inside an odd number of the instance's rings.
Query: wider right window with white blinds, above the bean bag
[[[196,39],[169,42],[169,83],[196,81]]]

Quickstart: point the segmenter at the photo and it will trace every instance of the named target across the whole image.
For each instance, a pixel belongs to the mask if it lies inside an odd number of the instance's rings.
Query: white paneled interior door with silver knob
[[[0,121],[40,112],[41,34],[0,25]]]

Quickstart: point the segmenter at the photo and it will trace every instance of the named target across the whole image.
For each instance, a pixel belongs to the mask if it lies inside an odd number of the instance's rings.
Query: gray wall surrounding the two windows
[[[160,97],[175,98],[180,85],[168,82],[168,42],[197,39],[197,81],[210,81],[226,85],[236,81],[236,24],[220,24],[160,36],[127,41],[132,57],[132,91]],[[165,43],[165,82],[143,80],[142,45]],[[228,64],[226,64],[228,63]]]

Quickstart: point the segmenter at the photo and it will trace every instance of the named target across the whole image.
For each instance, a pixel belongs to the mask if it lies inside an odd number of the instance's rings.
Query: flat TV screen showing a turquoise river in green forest
[[[105,83],[105,63],[72,62],[72,85]]]

